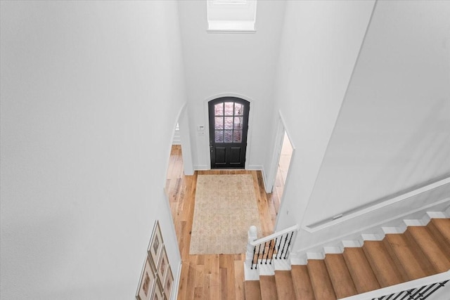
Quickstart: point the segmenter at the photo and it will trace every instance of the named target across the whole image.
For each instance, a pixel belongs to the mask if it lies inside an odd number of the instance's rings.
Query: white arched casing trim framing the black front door
[[[217,99],[217,98],[221,98],[221,97],[236,97],[236,98],[240,98],[243,100],[247,100],[248,102],[250,102],[250,111],[248,112],[248,130],[247,130],[247,148],[245,149],[245,164],[247,164],[249,162],[249,155],[250,155],[250,150],[252,148],[251,145],[251,133],[252,133],[252,123],[253,123],[253,114],[252,114],[252,110],[255,111],[255,101],[253,101],[251,98],[248,98],[247,96],[238,94],[238,93],[219,93],[216,94],[214,96],[210,96],[208,98],[205,98],[205,100],[203,100],[203,108],[205,110],[205,135],[207,135],[207,138],[205,138],[205,150],[207,153],[207,163],[208,166],[206,169],[203,170],[210,170],[211,169],[211,151],[210,151],[210,115],[209,115],[209,108],[208,108],[208,103],[211,100]],[[201,166],[205,166],[205,165],[200,165]],[[244,166],[245,169],[245,166]]]

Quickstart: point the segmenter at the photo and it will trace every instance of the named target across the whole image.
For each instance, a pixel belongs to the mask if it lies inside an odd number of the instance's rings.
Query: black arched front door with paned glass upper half
[[[244,169],[250,102],[222,97],[208,103],[211,169]]]

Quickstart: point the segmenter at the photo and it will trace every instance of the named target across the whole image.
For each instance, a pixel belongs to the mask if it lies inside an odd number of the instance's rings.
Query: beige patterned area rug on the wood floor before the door
[[[250,226],[261,223],[250,174],[199,175],[190,254],[242,254]]]

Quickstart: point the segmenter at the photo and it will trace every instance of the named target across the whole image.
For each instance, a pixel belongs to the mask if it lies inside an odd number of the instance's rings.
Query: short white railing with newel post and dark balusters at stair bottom
[[[258,263],[271,264],[274,259],[288,259],[299,229],[297,224],[257,240],[257,228],[250,226],[245,263],[253,270],[257,269]]]

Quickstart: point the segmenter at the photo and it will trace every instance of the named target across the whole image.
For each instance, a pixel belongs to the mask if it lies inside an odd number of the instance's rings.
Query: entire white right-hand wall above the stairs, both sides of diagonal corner
[[[288,2],[276,99],[297,149],[278,229],[449,176],[449,14],[446,1]],[[430,195],[300,230],[294,252],[445,197]]]

